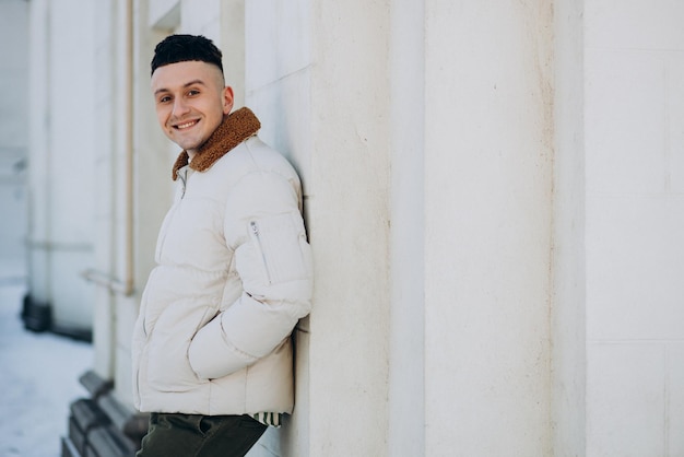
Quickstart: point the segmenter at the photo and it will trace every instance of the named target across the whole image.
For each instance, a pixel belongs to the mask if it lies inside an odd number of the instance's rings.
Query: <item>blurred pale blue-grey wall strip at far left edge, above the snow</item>
[[[26,276],[26,155],[28,147],[28,5],[0,1],[0,278]]]

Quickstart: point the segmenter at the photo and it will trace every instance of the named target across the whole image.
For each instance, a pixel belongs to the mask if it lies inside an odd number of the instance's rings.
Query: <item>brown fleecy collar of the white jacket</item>
[[[261,122],[257,116],[247,107],[231,113],[223,119],[223,122],[209,137],[207,142],[200,147],[194,159],[190,162],[190,168],[196,172],[208,171],[214,162],[231,152],[233,148],[257,133],[261,128]],[[173,178],[178,178],[178,171],[188,164],[188,153],[182,151],[174,164]]]

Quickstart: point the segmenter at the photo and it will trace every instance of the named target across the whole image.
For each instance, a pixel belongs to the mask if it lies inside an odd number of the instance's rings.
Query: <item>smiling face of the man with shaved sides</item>
[[[233,109],[233,90],[211,63],[187,61],[152,74],[156,116],[164,133],[192,157]]]

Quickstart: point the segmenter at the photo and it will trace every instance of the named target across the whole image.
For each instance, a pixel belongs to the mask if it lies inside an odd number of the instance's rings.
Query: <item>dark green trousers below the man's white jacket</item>
[[[137,457],[243,457],[267,426],[249,415],[150,414]]]

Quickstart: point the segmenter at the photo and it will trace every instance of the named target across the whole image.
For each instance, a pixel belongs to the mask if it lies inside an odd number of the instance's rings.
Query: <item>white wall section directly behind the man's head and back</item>
[[[305,222],[311,235],[316,215],[311,212],[311,192],[315,179],[311,162],[311,2],[297,0],[283,3],[279,0],[225,4],[229,17],[222,27],[226,46],[226,78],[237,83],[236,106],[240,92],[244,103],[261,120],[259,136],[278,149],[297,169],[304,191]],[[239,16],[244,7],[244,15]],[[244,19],[244,24],[238,23]],[[239,36],[239,31],[244,36]],[[244,49],[239,47],[244,46]],[[244,68],[240,57],[244,56]],[[244,86],[239,87],[240,78]],[[316,306],[316,305],[314,305]],[[250,456],[307,456],[309,455],[310,409],[309,389],[310,321],[299,321],[294,331],[295,410],[281,430],[269,430]]]

